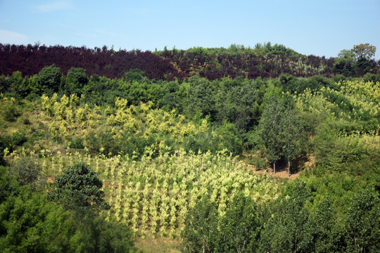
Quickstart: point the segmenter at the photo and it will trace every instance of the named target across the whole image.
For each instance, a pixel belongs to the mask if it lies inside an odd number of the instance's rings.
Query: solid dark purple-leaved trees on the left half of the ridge
[[[11,75],[20,71],[24,75],[37,74],[46,65],[55,64],[67,74],[71,67],[82,67],[87,74],[120,78],[131,68],[144,70],[151,79],[172,79],[175,69],[169,60],[149,51],[118,51],[85,46],[44,46],[35,44],[15,46],[0,44],[0,74]]]

